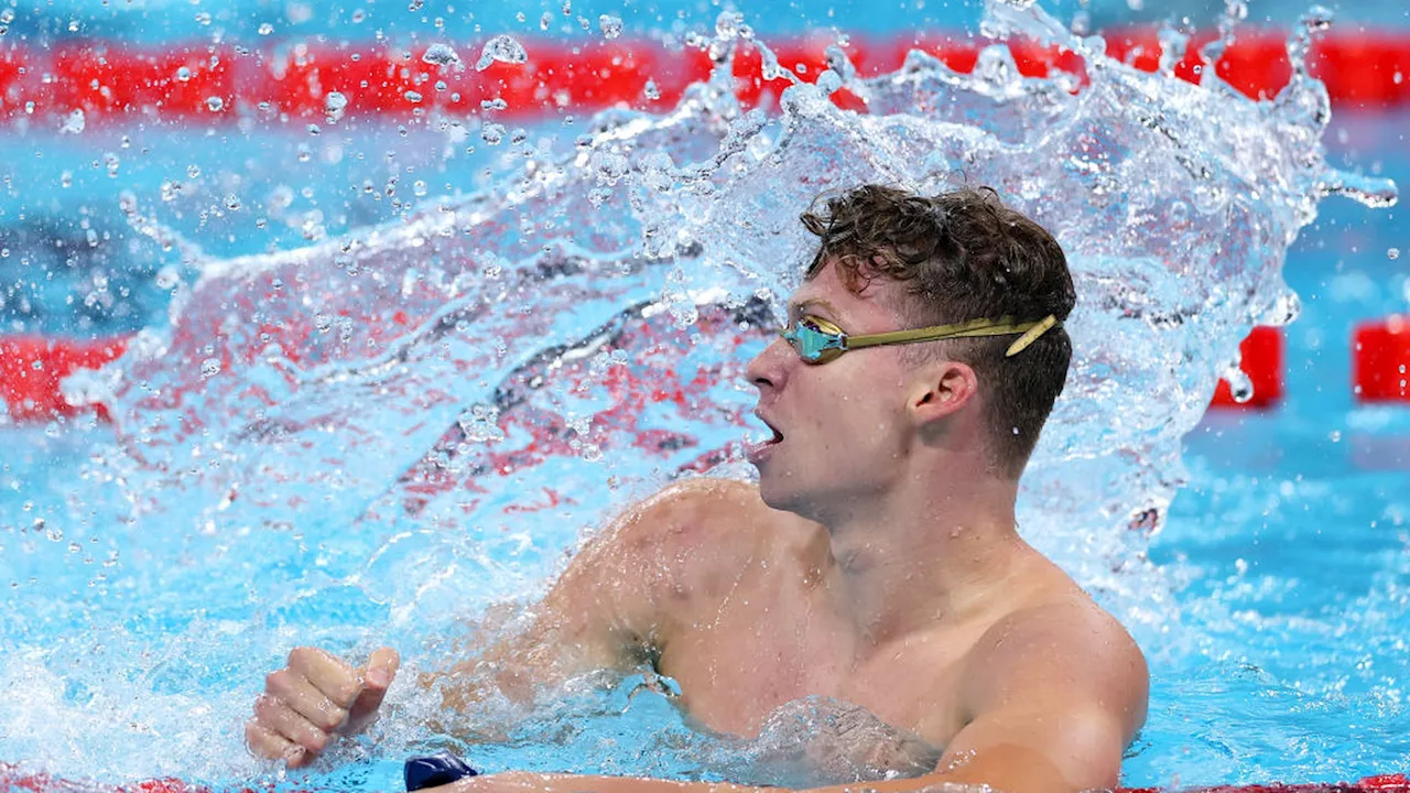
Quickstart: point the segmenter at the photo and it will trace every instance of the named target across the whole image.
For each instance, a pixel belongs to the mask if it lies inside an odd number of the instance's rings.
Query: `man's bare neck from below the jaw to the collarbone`
[[[1028,550],[1015,495],[1015,483],[991,476],[911,478],[828,521],[836,608],[854,625],[859,653],[991,605]]]

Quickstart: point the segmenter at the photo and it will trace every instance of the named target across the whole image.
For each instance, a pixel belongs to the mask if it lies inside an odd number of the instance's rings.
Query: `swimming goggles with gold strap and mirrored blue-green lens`
[[[849,336],[836,325],[821,316],[802,315],[791,327],[783,329],[783,337],[809,364],[825,364],[852,350],[881,347],[884,344],[914,344],[916,341],[938,341],[940,339],[966,339],[973,336],[1012,336],[1022,333],[1008,346],[1004,357],[1022,353],[1039,336],[1058,325],[1058,317],[1048,315],[1034,322],[1014,322],[1011,316],[998,319],[974,319],[953,325],[935,325],[915,330],[893,330],[890,333],[867,333]]]

